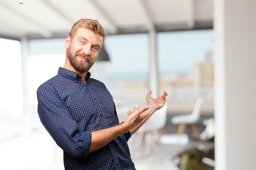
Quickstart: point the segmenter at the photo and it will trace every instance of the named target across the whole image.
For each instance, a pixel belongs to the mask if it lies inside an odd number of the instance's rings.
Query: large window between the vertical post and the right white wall
[[[157,52],[169,112],[189,112],[195,99],[204,97],[202,111],[213,113],[213,30],[158,33]]]

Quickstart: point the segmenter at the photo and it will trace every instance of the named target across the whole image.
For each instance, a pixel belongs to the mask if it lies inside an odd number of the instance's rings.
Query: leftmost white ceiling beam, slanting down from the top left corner
[[[2,2],[2,4],[0,4],[0,6],[1,6],[1,8],[4,8],[8,13],[13,15],[18,20],[21,20],[21,21],[23,20],[26,23],[28,23],[29,26],[34,27],[35,31],[37,33],[39,33],[40,35],[43,35],[45,38],[50,38],[52,36],[51,31],[45,29],[44,26],[41,26],[38,23],[36,23],[36,22],[32,21],[31,19],[27,18],[22,13],[19,13],[16,10],[11,9],[11,7],[8,4],[6,4],[6,3],[4,4],[4,2]]]

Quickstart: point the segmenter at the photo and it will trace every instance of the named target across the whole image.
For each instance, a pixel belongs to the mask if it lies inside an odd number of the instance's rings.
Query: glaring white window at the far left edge
[[[0,38],[0,117],[18,118],[22,110],[20,42]]]

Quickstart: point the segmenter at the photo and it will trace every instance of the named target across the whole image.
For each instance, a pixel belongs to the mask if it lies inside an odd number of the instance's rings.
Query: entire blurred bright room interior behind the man
[[[120,122],[150,89],[168,93],[128,141],[137,170],[185,170],[190,161],[256,169],[255,11],[254,0],[0,0],[0,169],[64,169],[36,90],[64,66],[65,37],[81,18],[106,31],[90,73],[106,84]]]

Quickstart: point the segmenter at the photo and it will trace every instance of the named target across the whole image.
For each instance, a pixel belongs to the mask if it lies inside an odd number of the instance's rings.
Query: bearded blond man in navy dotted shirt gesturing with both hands
[[[133,170],[128,139],[157,109],[162,97],[146,96],[147,106],[128,111],[119,124],[106,86],[88,72],[103,46],[105,33],[96,20],[81,19],[66,37],[64,68],[37,90],[38,114],[63,149],[66,170]]]

